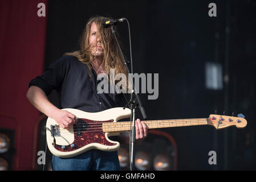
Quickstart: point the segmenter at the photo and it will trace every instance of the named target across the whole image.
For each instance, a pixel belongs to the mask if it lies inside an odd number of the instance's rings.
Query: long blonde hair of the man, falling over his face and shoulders
[[[92,55],[92,52],[91,52],[92,45],[90,45],[89,37],[90,37],[91,25],[94,22],[97,26],[97,36],[100,36],[101,45],[104,49],[103,64],[105,67],[105,71],[108,75],[108,78],[109,78],[111,69],[115,69],[115,75],[117,73],[124,73],[127,78],[127,81],[123,82],[122,84],[123,86],[125,85],[128,90],[127,69],[125,68],[125,65],[123,63],[121,52],[119,50],[119,47],[117,46],[115,36],[113,36],[111,28],[110,27],[104,28],[102,25],[102,22],[104,19],[111,20],[112,18],[108,18],[104,16],[91,17],[88,20],[86,27],[83,30],[82,36],[79,39],[80,49],[78,51],[64,53],[64,56],[65,55],[75,56],[79,61],[86,64],[90,69],[89,74],[91,76],[91,69],[92,69],[91,65],[94,59],[94,55]],[[118,34],[117,34],[117,38],[118,38]],[[114,79],[115,78],[113,78],[113,80],[110,80],[110,81],[113,81],[113,83],[115,83]]]

